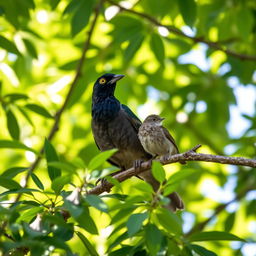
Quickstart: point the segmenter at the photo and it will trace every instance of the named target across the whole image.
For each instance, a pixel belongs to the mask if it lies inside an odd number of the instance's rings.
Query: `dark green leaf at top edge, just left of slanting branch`
[[[76,9],[71,21],[72,36],[79,33],[89,22],[94,6],[93,0],[80,0],[80,5]]]

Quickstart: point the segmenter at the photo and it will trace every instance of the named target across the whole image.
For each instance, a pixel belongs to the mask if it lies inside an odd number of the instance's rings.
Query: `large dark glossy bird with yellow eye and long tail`
[[[125,170],[134,166],[137,160],[149,160],[152,155],[147,153],[140,143],[138,131],[141,121],[126,105],[121,104],[114,96],[116,82],[123,75],[105,74],[97,79],[92,95],[92,132],[100,151],[117,148],[118,151],[109,162]],[[154,179],[151,170],[139,175],[157,190],[159,183]],[[180,200],[170,195],[172,210],[183,208]]]

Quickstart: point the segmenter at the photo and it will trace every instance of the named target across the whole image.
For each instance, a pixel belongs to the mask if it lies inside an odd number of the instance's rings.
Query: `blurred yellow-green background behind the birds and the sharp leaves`
[[[141,120],[152,113],[166,118],[181,152],[200,143],[202,153],[255,158],[256,2],[102,2],[79,80],[52,140],[60,159],[82,159],[87,165],[98,154],[90,125],[91,94],[96,79],[107,72],[125,75],[115,95]],[[2,141],[41,149],[77,72],[97,5],[96,0],[0,0],[0,173],[35,160],[32,152],[6,148]],[[226,204],[204,231],[230,231],[249,242],[202,244],[217,255],[256,255],[255,169],[188,162],[165,170],[170,175],[181,168],[196,170],[177,188],[186,204],[180,214],[184,232]],[[24,173],[15,177],[21,185]],[[50,190],[45,159],[34,173]],[[133,185],[140,182],[125,181],[124,193],[138,193]],[[73,183],[79,185],[79,179]],[[31,179],[28,187],[36,187]],[[4,191],[6,186],[0,187]],[[92,210],[91,216],[101,231],[90,239],[103,255],[111,215]],[[77,238],[69,243],[74,252],[87,255]]]

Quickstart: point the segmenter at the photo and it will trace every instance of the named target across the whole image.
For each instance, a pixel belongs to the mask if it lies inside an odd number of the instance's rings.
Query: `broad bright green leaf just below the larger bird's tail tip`
[[[156,217],[159,223],[165,228],[168,232],[172,234],[180,235],[182,234],[181,221],[173,212],[165,209],[159,208],[156,211]]]

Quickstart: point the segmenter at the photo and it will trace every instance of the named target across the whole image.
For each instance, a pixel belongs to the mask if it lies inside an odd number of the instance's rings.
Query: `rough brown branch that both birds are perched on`
[[[243,157],[230,157],[230,156],[219,156],[219,155],[211,155],[211,154],[202,154],[196,153],[196,150],[201,147],[201,145],[197,145],[191,150],[176,154],[170,155],[160,158],[157,161],[160,161],[163,165],[177,163],[180,161],[202,161],[202,162],[212,162],[212,163],[220,163],[220,164],[232,164],[232,165],[242,165],[249,167],[256,167],[256,160],[243,158]],[[136,176],[148,169],[150,169],[152,161],[143,162],[141,168],[136,170],[135,168],[130,168],[128,170],[122,171],[117,175],[113,176],[113,178],[117,179],[119,182],[127,180],[132,176]],[[87,193],[88,194],[96,194],[99,195],[103,192],[110,192],[113,184],[104,181],[102,184],[92,188]]]

